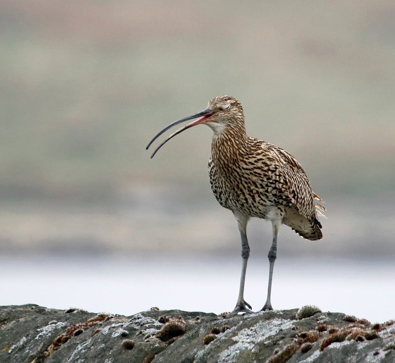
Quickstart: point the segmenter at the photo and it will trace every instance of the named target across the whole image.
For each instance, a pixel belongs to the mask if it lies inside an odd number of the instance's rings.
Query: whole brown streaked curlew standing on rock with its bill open
[[[269,142],[247,136],[243,109],[234,97],[213,98],[203,111],[165,127],[154,136],[147,149],[158,136],[173,126],[196,118],[198,119],[168,136],[155,149],[151,158],[164,143],[184,130],[200,124],[212,129],[214,135],[208,161],[211,189],[218,203],[233,212],[241,236],[239,292],[236,307],[228,316],[251,313],[251,306],[244,300],[245,272],[250,254],[246,227],[251,217],[272,222],[268,292],[261,310],[273,310],[271,290],[278,228],[284,224],[305,239],[321,239],[322,226],[318,216],[323,216],[321,211],[325,210],[319,204],[322,200],[312,191],[306,173],[290,153]]]

